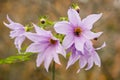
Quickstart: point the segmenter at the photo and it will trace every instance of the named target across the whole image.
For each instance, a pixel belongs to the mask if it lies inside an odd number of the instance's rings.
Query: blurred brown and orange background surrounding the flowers
[[[78,62],[66,70],[68,58],[60,56],[62,65],[56,65],[56,80],[120,80],[120,0],[0,0],[0,59],[17,54],[14,41],[9,37],[10,30],[3,25],[7,14],[23,25],[37,24],[38,17],[43,15],[55,21],[67,16],[72,3],[79,5],[81,18],[92,13],[103,13],[93,31],[103,31],[104,34],[94,45],[99,47],[105,41],[107,46],[98,51],[102,61],[100,68],[94,66],[78,74]],[[49,72],[43,65],[36,68],[35,60],[36,55],[29,61],[0,64],[0,80],[51,80],[51,67]]]

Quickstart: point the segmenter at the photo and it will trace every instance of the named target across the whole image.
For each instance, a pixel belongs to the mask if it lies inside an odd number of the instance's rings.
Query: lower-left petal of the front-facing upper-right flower
[[[65,36],[65,38],[63,40],[63,47],[65,49],[68,49],[69,47],[72,46],[73,43],[74,43],[74,35],[68,34]]]

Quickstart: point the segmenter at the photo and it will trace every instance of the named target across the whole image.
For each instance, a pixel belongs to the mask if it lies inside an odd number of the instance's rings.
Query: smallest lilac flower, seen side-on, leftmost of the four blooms
[[[15,38],[14,44],[15,44],[16,48],[18,49],[18,52],[20,52],[21,45],[22,45],[23,41],[25,40],[25,35],[24,35],[25,28],[20,23],[13,22],[8,17],[8,15],[7,15],[7,20],[9,22],[9,24],[4,22],[4,25],[12,30],[12,31],[10,31],[10,37]]]

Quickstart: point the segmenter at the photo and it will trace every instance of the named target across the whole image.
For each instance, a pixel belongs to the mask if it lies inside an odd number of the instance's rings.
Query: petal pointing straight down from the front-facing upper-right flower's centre
[[[75,37],[75,48],[82,53],[84,52],[84,43],[86,42],[86,39],[84,37]]]

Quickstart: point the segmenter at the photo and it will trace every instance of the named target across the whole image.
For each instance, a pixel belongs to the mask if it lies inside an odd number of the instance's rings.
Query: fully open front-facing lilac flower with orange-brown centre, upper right
[[[54,25],[55,31],[60,34],[65,34],[63,40],[63,46],[65,49],[70,48],[75,44],[75,48],[79,51],[84,50],[84,43],[87,40],[96,38],[101,35],[102,32],[94,33],[90,30],[93,27],[93,24],[102,16],[101,14],[92,14],[88,17],[81,20],[79,14],[74,9],[68,10],[68,19],[67,21],[57,22]]]

